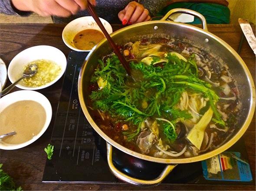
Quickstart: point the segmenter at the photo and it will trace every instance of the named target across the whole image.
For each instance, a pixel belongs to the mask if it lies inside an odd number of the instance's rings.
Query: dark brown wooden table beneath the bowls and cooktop
[[[56,24],[1,24],[0,26],[0,57],[7,64],[10,60],[26,48],[36,45],[51,45],[59,48],[66,56],[70,49],[62,41],[64,25]],[[120,25],[113,25],[119,29]],[[242,35],[239,25],[208,25],[213,34],[226,41],[235,50],[239,47]],[[245,61],[255,82],[255,55],[245,40],[240,56]],[[7,85],[10,81],[7,82]],[[24,190],[255,190],[255,185],[159,185],[155,188],[140,188],[128,184],[46,184],[42,183],[43,170],[46,162],[44,147],[49,143],[53,131],[53,122],[62,80],[49,88],[39,90],[53,106],[53,118],[45,134],[35,143],[19,150],[1,150],[0,162],[3,169],[14,178],[16,185],[21,185]],[[18,88],[14,89],[18,90]],[[255,180],[255,116],[249,129],[243,135],[249,155],[249,164]]]

